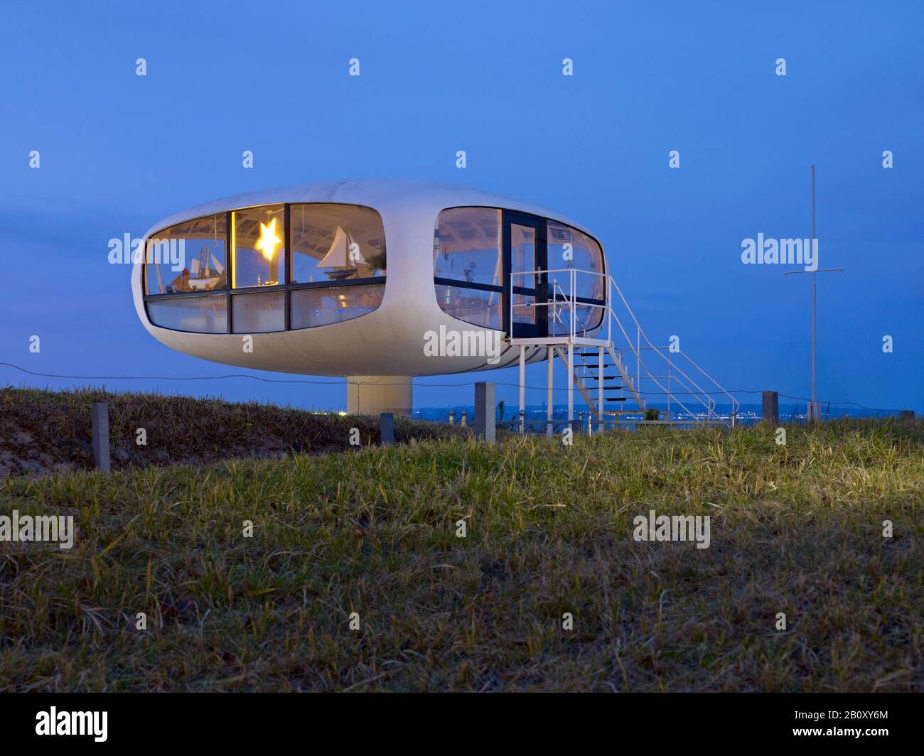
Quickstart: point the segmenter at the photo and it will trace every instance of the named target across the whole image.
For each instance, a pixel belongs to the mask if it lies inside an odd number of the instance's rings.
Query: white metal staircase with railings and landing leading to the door
[[[577,389],[593,416],[590,428],[594,423],[602,430],[620,423],[646,421],[647,396],[667,404],[664,420],[658,422],[730,423],[734,427],[739,407],[736,398],[679,347],[652,344],[613,276],[574,268],[528,271],[523,275],[564,273],[568,274],[568,291],[556,280],[546,301],[518,302],[521,311],[524,307],[548,308],[551,332],[540,338],[510,339],[511,345],[520,348],[521,420],[525,415],[526,363],[536,357],[537,351],[544,349],[549,365],[547,421],[553,419],[553,361],[557,356],[564,363],[567,375],[568,421],[574,420],[574,391]],[[590,304],[587,299],[578,301],[578,275],[604,279],[605,304]],[[511,302],[510,322],[514,315],[513,280],[512,276],[507,299]],[[590,323],[596,322],[592,313],[600,310],[603,317],[599,324],[589,328]],[[708,388],[703,388],[703,384]],[[719,417],[716,412],[713,398],[716,395],[727,397],[731,406],[728,416]],[[547,429],[547,433],[551,433],[551,422],[547,422]]]

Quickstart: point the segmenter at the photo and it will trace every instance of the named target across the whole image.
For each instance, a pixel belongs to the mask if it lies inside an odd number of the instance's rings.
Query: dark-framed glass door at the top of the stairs
[[[542,222],[533,215],[504,212],[504,268],[506,291],[513,284],[513,307],[506,303],[506,331],[517,338],[546,335],[548,317],[545,301],[545,239]]]

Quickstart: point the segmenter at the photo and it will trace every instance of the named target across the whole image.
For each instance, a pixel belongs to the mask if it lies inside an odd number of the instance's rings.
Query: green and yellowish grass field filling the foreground
[[[924,690],[924,426],[787,432],[6,479],[79,536],[0,544],[0,689]]]

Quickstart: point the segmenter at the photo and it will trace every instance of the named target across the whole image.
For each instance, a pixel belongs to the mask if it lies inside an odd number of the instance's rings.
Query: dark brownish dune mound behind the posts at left
[[[7,386],[0,388],[0,477],[92,469],[91,404],[96,401],[109,404],[113,469],[344,451],[355,448],[353,428],[359,445],[380,440],[378,419],[371,417],[191,396]],[[435,424],[395,423],[398,441],[452,434]]]

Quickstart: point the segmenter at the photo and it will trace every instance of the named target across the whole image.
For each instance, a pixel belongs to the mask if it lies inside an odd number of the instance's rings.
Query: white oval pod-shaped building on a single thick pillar
[[[544,360],[556,335],[590,343],[609,291],[586,229],[445,184],[240,194],[164,218],[143,243],[132,289],[156,339],[229,365],[346,376],[347,410],[359,413],[409,413],[413,376],[505,367],[520,347]],[[577,325],[560,317],[565,298]],[[446,348],[453,334],[488,353]]]

